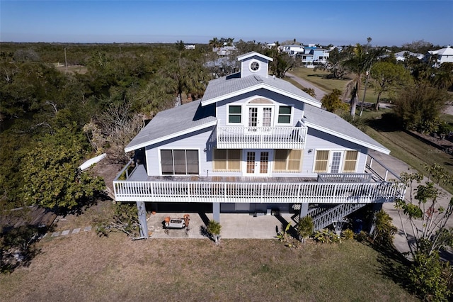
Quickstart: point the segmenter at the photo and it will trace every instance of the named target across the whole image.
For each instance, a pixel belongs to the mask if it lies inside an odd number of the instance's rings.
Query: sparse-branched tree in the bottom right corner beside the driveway
[[[412,258],[404,274],[410,281],[410,289],[425,301],[451,301],[453,269],[440,259],[439,252],[453,245],[453,229],[447,228],[453,213],[453,198],[442,205],[440,187],[451,184],[453,179],[437,164],[428,167],[428,173],[424,184],[422,174],[401,174],[411,190],[408,201],[398,199],[395,205]],[[414,181],[418,184],[416,189],[413,189]],[[406,221],[411,233],[406,230]]]

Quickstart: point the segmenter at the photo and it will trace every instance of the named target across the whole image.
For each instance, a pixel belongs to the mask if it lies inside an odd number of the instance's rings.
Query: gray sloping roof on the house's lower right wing
[[[309,104],[305,104],[304,109],[304,118],[302,121],[308,123],[309,127],[310,124],[312,124],[314,126],[312,128],[318,128],[319,130],[323,129],[326,133],[351,142],[356,142],[357,144],[364,145],[372,150],[384,152],[386,154],[390,153],[390,150],[386,147],[343,120],[343,118],[340,118],[340,116]]]

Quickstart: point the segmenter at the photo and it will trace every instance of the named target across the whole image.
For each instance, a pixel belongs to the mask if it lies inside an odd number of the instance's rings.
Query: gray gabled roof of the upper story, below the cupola
[[[290,94],[294,94],[295,96],[299,96],[303,99],[313,101],[316,104],[321,105],[321,103],[318,100],[314,99],[314,97],[310,96],[305,91],[302,91],[301,89],[285,80],[271,76],[267,78],[259,77],[258,75],[251,75],[241,78],[240,73],[231,74],[230,76],[221,77],[219,79],[210,81],[210,84],[207,86],[207,89],[205,91],[205,95],[202,98],[202,103],[207,103],[211,99],[216,99],[219,96],[232,94],[243,89],[253,89],[253,86],[262,84],[273,87],[280,91],[289,92]]]

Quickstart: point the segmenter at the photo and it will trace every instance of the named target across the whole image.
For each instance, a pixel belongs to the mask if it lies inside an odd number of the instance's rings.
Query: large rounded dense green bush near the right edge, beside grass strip
[[[428,81],[417,81],[398,89],[394,112],[408,130],[432,133],[449,96]]]

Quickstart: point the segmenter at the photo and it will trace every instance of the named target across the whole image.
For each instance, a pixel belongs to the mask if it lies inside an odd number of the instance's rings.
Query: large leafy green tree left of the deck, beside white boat
[[[79,169],[85,147],[81,133],[74,128],[62,128],[28,152],[22,167],[26,203],[67,211],[92,202],[105,185],[100,177]]]

